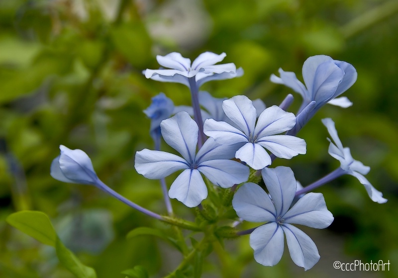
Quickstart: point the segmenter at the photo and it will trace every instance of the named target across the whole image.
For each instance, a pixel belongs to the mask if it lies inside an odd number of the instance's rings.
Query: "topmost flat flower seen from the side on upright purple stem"
[[[225,53],[217,55],[212,52],[204,52],[192,63],[188,58],[184,58],[180,53],[172,52],[166,56],[156,56],[158,63],[169,70],[144,70],[146,78],[151,78],[163,82],[177,82],[190,87],[188,78],[194,77],[199,88],[203,83],[210,80],[222,80],[238,77],[243,74],[243,70],[233,63],[214,65],[221,62]]]

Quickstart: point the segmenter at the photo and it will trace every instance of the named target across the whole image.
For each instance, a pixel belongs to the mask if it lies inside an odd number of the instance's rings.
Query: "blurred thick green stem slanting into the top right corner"
[[[341,33],[344,38],[350,38],[356,34],[368,29],[370,26],[375,25],[393,14],[398,12],[398,1],[392,0],[381,4],[360,16],[354,18],[344,26],[342,26]]]

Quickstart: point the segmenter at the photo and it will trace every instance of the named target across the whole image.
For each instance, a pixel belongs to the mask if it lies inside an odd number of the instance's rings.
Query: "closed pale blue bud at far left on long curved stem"
[[[81,149],[60,145],[61,154],[51,163],[50,175],[61,182],[99,185],[90,157]]]

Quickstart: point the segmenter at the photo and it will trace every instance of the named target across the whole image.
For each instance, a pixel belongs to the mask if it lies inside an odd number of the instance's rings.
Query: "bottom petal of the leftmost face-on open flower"
[[[184,170],[173,182],[169,197],[177,199],[189,208],[199,206],[207,198],[207,188],[196,169]]]

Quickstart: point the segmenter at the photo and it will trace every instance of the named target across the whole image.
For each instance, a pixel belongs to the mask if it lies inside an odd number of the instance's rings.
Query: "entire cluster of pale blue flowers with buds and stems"
[[[210,230],[215,231],[218,238],[230,237],[231,233],[223,234],[220,232],[223,229],[217,229],[218,216],[209,216],[206,207],[202,206],[206,202],[224,219],[231,220],[229,228],[234,236],[250,234],[250,246],[258,263],[276,265],[282,258],[286,236],[292,260],[308,270],[320,256],[315,243],[293,224],[322,229],[333,221],[323,195],[309,191],[348,174],[365,186],[372,201],[385,203],[387,200],[363,176],[370,168],[354,160],[350,149],[343,147],[331,119],[323,119],[322,122],[333,140],[329,139],[329,153],[341,163],[338,169],[298,189],[299,183],[291,168],[270,166],[277,157],[291,159],[306,153],[305,140],[296,134],[324,104],[352,105],[347,98],[336,97],[356,81],[356,70],[346,62],[319,55],[304,62],[302,76],[305,86],[294,72],[280,69],[280,77],[273,74],[271,81],[285,84],[302,96],[301,107],[295,115],[286,111],[293,101],[291,95],[280,106],[266,108],[261,100],[251,101],[244,95],[227,99],[199,92],[204,82],[243,74],[243,70],[236,69],[232,63],[215,65],[224,57],[225,53],[205,52],[191,63],[190,59],[173,52],[157,56],[159,64],[168,69],[143,71],[147,78],[187,85],[192,104],[174,106],[163,93],[152,98],[152,104],[144,113],[151,120],[150,135],[156,149],[137,151],[134,164],[136,171],[144,177],[161,180],[171,216],[173,210],[168,198],[177,199],[189,208],[198,207],[200,219],[213,225],[212,229],[201,228],[205,225],[203,223],[196,226],[195,223],[161,216],[126,200],[100,181],[90,158],[79,149],[71,150],[61,145],[61,154],[51,165],[51,176],[63,182],[94,185],[130,207],[173,225],[195,231],[206,230],[205,235]],[[161,138],[179,155],[160,150]],[[165,178],[175,172],[179,174],[168,190]],[[258,185],[261,178],[268,193]],[[209,192],[212,192],[211,196]],[[228,206],[235,210],[235,215],[222,214],[228,211]],[[236,215],[240,220],[237,221]],[[263,224],[250,230],[235,230],[237,223],[244,220]]]

